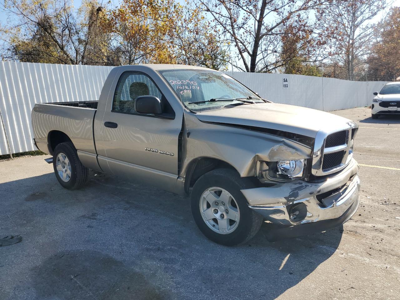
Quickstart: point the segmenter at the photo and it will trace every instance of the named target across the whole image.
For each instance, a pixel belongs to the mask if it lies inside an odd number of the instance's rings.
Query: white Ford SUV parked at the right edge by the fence
[[[371,106],[373,119],[381,114],[400,114],[400,82],[387,83],[374,95]]]

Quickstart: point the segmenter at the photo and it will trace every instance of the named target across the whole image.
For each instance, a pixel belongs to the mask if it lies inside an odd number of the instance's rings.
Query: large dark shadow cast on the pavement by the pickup
[[[94,172],[82,190],[46,174],[0,184],[0,198],[0,218],[12,220],[0,231],[23,235],[2,249],[9,299],[16,289],[36,299],[275,299],[330,258],[343,231],[270,243],[265,223],[248,244],[220,246],[196,228],[188,198]]]

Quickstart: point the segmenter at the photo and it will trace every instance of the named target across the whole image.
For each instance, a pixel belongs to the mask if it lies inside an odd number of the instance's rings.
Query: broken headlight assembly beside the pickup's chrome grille
[[[286,182],[303,178],[306,160],[282,160],[280,162],[258,162],[256,176],[263,183]]]

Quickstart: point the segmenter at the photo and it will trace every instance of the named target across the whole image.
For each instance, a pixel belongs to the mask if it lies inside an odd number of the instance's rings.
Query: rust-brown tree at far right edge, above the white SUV
[[[394,80],[400,75],[400,7],[392,8],[377,26],[376,33],[380,40],[368,57],[368,76],[375,80]]]

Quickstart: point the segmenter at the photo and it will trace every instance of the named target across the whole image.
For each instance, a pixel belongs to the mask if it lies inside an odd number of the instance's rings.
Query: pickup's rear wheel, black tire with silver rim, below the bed
[[[71,142],[56,146],[53,153],[53,168],[58,182],[68,190],[81,188],[88,181],[88,168],[80,162]]]

